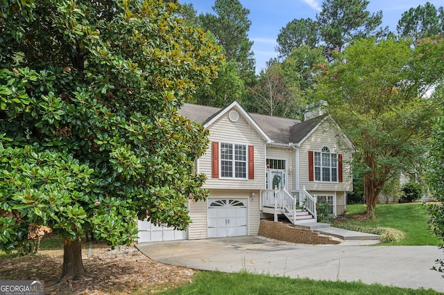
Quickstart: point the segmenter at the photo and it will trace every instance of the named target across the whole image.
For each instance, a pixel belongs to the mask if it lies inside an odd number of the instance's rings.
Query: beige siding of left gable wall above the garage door
[[[264,189],[265,188],[265,141],[264,139],[250,127],[247,120],[239,114],[239,120],[237,122],[231,122],[227,115],[222,116],[219,120],[213,123],[208,130],[210,135],[210,144],[207,152],[198,161],[198,171],[205,173],[207,181],[204,188],[215,189]],[[212,177],[212,142],[218,141],[219,143],[238,143],[242,145],[254,146],[254,159],[255,159],[255,175],[254,179],[248,179],[248,161],[247,161],[247,178],[213,178]],[[220,146],[220,145],[219,145]],[[219,161],[220,165],[220,161]],[[220,171],[220,169],[219,169]],[[219,175],[220,176],[220,175]]]

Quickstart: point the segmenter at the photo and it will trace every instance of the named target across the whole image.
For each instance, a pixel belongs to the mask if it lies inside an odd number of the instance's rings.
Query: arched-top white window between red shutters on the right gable
[[[323,147],[321,152],[314,152],[314,180],[338,181],[338,155]]]

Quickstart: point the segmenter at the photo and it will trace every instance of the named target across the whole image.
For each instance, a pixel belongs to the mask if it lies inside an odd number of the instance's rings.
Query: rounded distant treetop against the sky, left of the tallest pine
[[[293,19],[278,34],[278,51],[280,57],[288,57],[293,49],[300,46],[314,48],[318,45],[318,22],[312,19]]]

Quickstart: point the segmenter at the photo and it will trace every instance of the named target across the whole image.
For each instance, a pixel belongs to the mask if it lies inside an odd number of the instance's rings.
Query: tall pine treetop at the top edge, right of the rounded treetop
[[[322,10],[316,15],[321,41],[326,52],[334,48],[342,51],[352,40],[362,37],[382,37],[388,28],[378,28],[382,24],[382,10],[368,12],[366,0],[325,0]]]

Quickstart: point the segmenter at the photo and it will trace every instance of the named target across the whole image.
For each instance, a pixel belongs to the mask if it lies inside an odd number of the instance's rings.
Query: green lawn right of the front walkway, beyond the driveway
[[[438,246],[442,243],[442,240],[440,242],[429,230],[427,206],[422,203],[378,204],[376,220],[357,218],[365,212],[366,206],[362,204],[348,205],[345,220],[336,220],[333,225],[340,227],[342,222],[346,222],[362,226],[385,226],[403,231],[405,238],[399,242],[388,243],[391,245]]]

